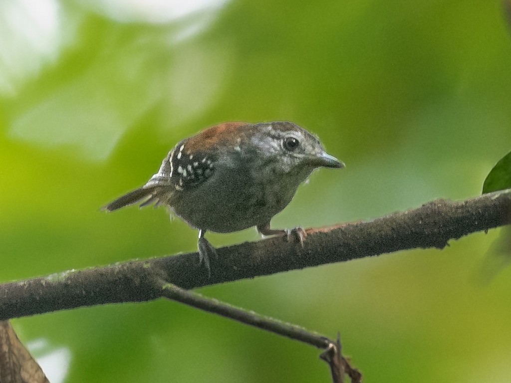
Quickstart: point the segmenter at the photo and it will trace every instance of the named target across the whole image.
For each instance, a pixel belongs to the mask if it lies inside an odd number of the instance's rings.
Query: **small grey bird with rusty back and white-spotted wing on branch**
[[[207,230],[229,233],[252,226],[263,235],[289,235],[270,221],[318,167],[344,167],[307,130],[287,121],[224,123],[183,139],[142,187],[104,207],[113,211],[142,201],[167,205],[199,229],[200,262],[210,275],[215,248]],[[305,231],[294,231],[303,242]]]

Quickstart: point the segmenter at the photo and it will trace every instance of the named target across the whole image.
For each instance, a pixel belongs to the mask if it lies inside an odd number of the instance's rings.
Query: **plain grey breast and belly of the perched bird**
[[[289,177],[270,165],[216,166],[213,176],[193,190],[180,193],[171,207],[199,229],[244,230],[269,222],[289,204],[306,177]]]

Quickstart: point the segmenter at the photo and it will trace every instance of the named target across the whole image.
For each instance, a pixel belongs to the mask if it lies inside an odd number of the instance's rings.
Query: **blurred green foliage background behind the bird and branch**
[[[288,119],[346,162],[275,227],[477,196],[511,149],[508,32],[487,0],[1,1],[0,279],[195,250],[165,209],[100,207],[224,121]],[[498,233],[200,291],[340,331],[368,382],[507,382],[511,270],[481,278]],[[316,349],[168,301],[13,325],[52,383],[330,381]]]

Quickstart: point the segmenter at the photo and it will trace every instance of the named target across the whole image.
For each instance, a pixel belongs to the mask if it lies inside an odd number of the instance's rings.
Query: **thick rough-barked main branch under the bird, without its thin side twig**
[[[188,253],[0,285],[0,320],[81,306],[163,297],[154,278],[183,289],[414,248],[511,223],[511,189],[459,202],[436,200],[366,222],[306,230],[304,246],[282,237],[217,249],[211,278]]]

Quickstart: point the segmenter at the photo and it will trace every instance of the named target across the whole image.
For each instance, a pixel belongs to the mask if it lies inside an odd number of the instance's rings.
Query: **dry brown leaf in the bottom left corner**
[[[9,321],[0,322],[0,382],[49,383]]]

